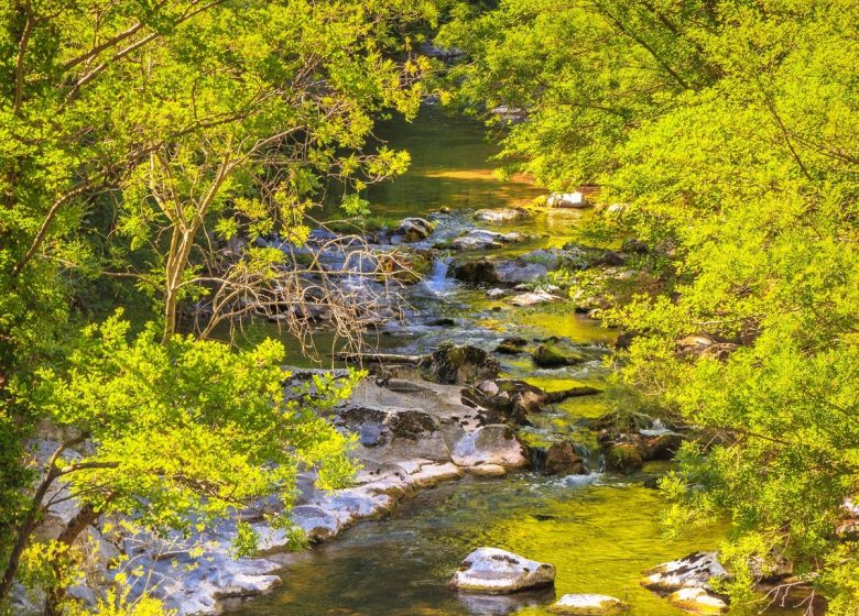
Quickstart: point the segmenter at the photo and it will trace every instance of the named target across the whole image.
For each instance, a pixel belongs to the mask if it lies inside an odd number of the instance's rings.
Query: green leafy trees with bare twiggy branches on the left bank
[[[155,528],[181,526],[192,510],[211,516],[264,490],[289,494],[301,465],[348,474],[344,440],[309,413],[324,400],[295,409],[275,399],[276,346],[232,352],[194,341],[180,333],[180,316],[183,304],[208,301],[197,330],[207,337],[250,310],[304,300],[307,274],[325,271],[258,240],[280,233],[301,245],[305,215],[329,179],[357,210],[367,183],[404,168],[403,154],[365,150],[373,113],[415,110],[426,65],[410,56],[407,31],[434,12],[420,0],[0,8],[0,602],[56,481],[70,482],[83,505],[80,525],[58,541],[70,543],[99,513],[148,512]],[[157,324],[131,343],[117,320],[87,326],[88,310],[69,304],[86,306],[102,278],[148,294]],[[221,380],[238,394],[220,400],[235,405],[231,417],[214,417],[209,398],[176,405],[195,384],[215,396]],[[90,382],[98,392],[85,393]],[[177,398],[162,397],[170,387]],[[63,398],[64,388],[79,398]],[[127,395],[153,415],[130,417]],[[23,498],[34,480],[25,446],[40,419],[76,436]],[[254,441],[254,427],[271,447]],[[83,441],[91,455],[63,459]],[[163,464],[186,462],[178,444],[211,464],[170,474]],[[216,451],[237,465],[219,465]],[[62,598],[57,584],[46,613]]]

